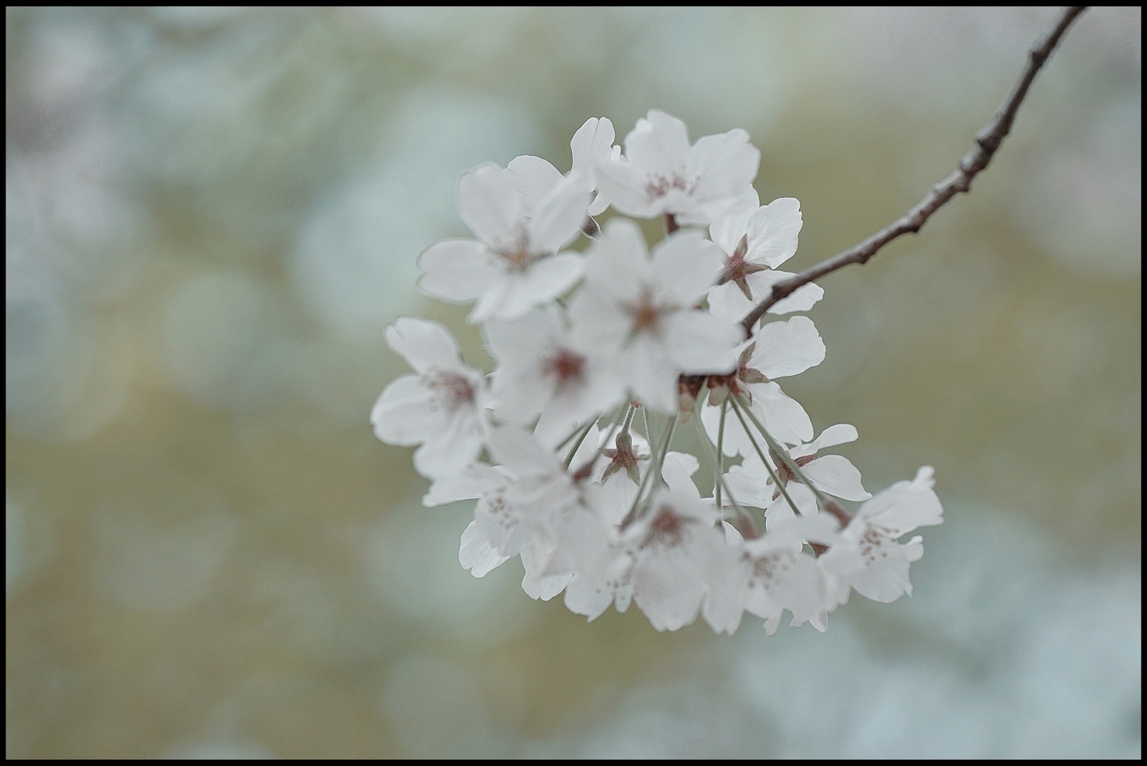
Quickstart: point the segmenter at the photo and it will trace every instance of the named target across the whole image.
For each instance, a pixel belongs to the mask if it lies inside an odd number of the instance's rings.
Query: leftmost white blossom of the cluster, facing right
[[[431,478],[458,474],[482,451],[486,394],[483,377],[462,362],[458,344],[437,322],[400,316],[387,343],[414,368],[374,402],[370,423],[387,444],[422,445],[414,467]]]

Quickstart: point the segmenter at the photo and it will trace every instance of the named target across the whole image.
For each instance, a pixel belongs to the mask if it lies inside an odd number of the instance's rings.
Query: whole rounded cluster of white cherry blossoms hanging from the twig
[[[778,267],[796,252],[799,204],[760,204],[760,153],[742,130],[690,142],[654,110],[624,151],[614,138],[591,118],[569,173],[523,156],[461,177],[474,236],[424,250],[419,288],[473,303],[497,367],[468,366],[442,325],[398,319],[387,341],[414,373],[379,397],[375,433],[418,446],[426,506],[477,500],[462,566],[483,577],[520,556],[526,594],[564,593],[590,619],[633,602],[657,630],[701,615],[732,633],[749,612],[772,635],[785,610],[824,631],[852,591],[911,594],[921,538],[902,539],[943,521],[931,468],[872,495],[825,454],[856,428],[813,438],[777,383],[824,360],[812,320],[782,319],[824,291],[805,284],[744,323],[791,276]],[[650,249],[632,219],[666,234]],[[686,429],[696,455],[673,448]]]

